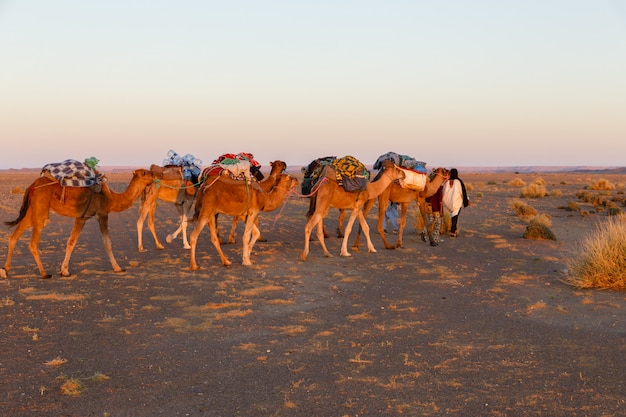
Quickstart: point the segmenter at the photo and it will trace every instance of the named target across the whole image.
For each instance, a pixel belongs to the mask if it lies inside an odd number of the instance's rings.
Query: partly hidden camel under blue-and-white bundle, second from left
[[[157,200],[166,203],[174,203],[176,210],[180,216],[180,224],[178,229],[167,235],[166,242],[171,243],[179,233],[182,232],[183,247],[189,249],[189,241],[187,240],[187,219],[191,214],[193,203],[195,201],[196,188],[193,184],[187,183],[183,178],[183,170],[181,166],[159,167],[153,165],[150,170],[157,173],[164,173],[162,179],[150,184],[146,187],[141,197],[141,206],[139,207],[139,218],[137,219],[137,248],[139,252],[146,252],[143,246],[143,223],[148,217],[148,229],[152,233],[157,249],[165,247],[159,241],[154,227],[154,212],[156,210]]]

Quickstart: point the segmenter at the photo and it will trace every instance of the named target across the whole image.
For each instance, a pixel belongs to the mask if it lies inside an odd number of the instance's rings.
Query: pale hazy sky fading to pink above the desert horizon
[[[626,0],[0,0],[0,169],[626,165]]]

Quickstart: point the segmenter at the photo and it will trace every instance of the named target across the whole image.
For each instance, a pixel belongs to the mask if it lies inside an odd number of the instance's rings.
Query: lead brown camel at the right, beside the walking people
[[[385,244],[386,249],[395,249],[403,247],[402,243],[402,234],[404,232],[404,227],[406,225],[406,213],[409,203],[411,201],[415,201],[420,209],[420,214],[426,220],[426,198],[432,196],[437,192],[437,189],[444,183],[446,179],[448,179],[449,173],[445,168],[436,168],[431,171],[428,176],[428,180],[425,183],[425,186],[421,190],[414,190],[411,188],[402,187],[398,182],[394,182],[391,184],[389,188],[387,188],[383,193],[378,196],[378,223],[376,229],[380,234],[383,243]],[[398,239],[396,240],[395,246],[390,245],[387,242],[387,237],[385,236],[385,229],[383,227],[384,219],[385,219],[385,209],[390,201],[394,203],[400,204],[400,221],[399,221],[399,230],[398,230]],[[363,208],[363,214],[367,216],[367,214],[372,209],[375,203],[375,199],[371,199],[365,203]],[[430,231],[429,237],[430,237]],[[354,239],[354,244],[352,248],[354,250],[358,250],[359,248],[359,235],[360,230],[357,232],[356,238]]]

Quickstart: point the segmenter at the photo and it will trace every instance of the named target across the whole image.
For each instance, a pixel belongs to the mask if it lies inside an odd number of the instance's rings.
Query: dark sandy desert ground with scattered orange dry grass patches
[[[0,173],[0,219],[17,217],[36,176]],[[562,282],[567,256],[607,220],[576,193],[626,177],[519,175],[549,192],[523,199],[551,217],[557,241],[537,241],[522,238],[527,220],[511,208],[515,176],[461,172],[472,205],[456,239],[423,243],[412,205],[403,248],[384,249],[371,214],[378,252],[349,258],[333,237],[334,257],[312,242],[300,260],[308,200],[298,196],[261,214],[267,242],[250,267],[240,243],[224,246],[233,265],[223,267],[206,229],[199,271],[180,238],[159,251],[144,230],[139,253],[138,202],[110,216],[124,273],[112,272],[91,220],[73,275],[40,280],[28,232],[0,280],[0,415],[626,415],[626,297]],[[128,179],[109,181],[122,191]],[[589,214],[562,208],[573,201]],[[161,203],[163,242],[176,222]],[[49,272],[71,226],[51,215],[40,245]],[[10,232],[0,229],[3,263]]]

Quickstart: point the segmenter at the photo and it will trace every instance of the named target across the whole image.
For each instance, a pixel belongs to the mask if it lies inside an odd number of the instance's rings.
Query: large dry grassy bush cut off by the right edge
[[[626,289],[626,217],[609,217],[566,259],[564,281],[577,288]]]

